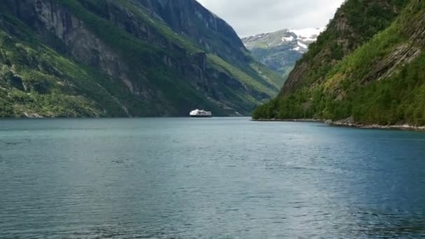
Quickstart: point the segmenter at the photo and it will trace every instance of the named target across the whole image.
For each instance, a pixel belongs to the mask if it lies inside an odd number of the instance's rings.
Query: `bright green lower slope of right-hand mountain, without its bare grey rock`
[[[425,124],[425,54],[399,66],[391,76],[364,82],[380,59],[402,45],[424,50],[411,41],[407,29],[422,28],[425,3],[412,0],[389,28],[377,34],[326,74],[321,84],[307,85],[257,108],[255,118],[320,118],[354,120],[363,124]],[[423,22],[423,20],[422,20]]]

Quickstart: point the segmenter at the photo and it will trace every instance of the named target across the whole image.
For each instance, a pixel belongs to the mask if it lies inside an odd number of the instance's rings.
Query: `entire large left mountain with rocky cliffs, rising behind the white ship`
[[[194,0],[0,1],[0,116],[249,115],[283,80]]]

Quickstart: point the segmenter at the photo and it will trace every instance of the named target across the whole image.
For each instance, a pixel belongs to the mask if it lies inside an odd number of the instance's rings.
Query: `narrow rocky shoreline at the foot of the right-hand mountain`
[[[257,122],[322,122],[329,126],[346,127],[356,129],[392,129],[401,131],[417,131],[425,132],[425,126],[412,126],[410,124],[395,124],[395,125],[380,125],[380,124],[356,124],[351,120],[343,119],[339,121],[332,121],[330,119],[252,119]]]

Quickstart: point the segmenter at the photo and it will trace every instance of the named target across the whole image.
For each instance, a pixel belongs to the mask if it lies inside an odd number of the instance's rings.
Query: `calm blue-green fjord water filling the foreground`
[[[0,120],[0,238],[425,236],[425,134]]]

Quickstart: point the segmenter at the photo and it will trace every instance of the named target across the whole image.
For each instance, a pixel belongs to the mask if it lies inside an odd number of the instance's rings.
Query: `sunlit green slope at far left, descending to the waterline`
[[[31,37],[22,22],[3,15],[20,38],[0,31],[0,115],[124,116],[95,75]],[[27,88],[27,89],[25,89]],[[101,108],[96,101],[105,102]]]

